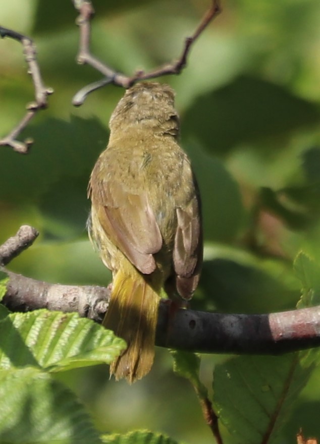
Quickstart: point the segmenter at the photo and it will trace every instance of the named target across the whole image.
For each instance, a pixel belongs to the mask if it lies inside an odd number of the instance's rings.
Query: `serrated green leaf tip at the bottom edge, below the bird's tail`
[[[103,444],[178,444],[178,441],[169,436],[148,430],[135,430],[125,435],[120,433],[103,435],[101,439]]]

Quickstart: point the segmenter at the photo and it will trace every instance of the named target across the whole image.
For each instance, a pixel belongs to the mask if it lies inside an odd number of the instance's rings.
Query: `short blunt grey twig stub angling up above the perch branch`
[[[17,234],[0,246],[0,265],[7,265],[23,250],[30,247],[39,233],[29,225],[22,225]]]

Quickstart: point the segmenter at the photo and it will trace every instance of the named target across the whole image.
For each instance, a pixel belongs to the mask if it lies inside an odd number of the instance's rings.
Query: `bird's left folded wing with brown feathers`
[[[147,194],[131,194],[122,184],[103,181],[92,193],[101,227],[139,271],[150,274],[156,265],[152,254],[162,247],[162,236]]]

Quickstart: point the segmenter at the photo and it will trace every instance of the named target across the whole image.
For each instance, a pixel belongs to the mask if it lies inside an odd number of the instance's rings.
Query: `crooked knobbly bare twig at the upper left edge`
[[[12,29],[7,29],[0,26],[0,36],[10,37],[14,40],[21,42],[23,46],[23,53],[25,55],[26,62],[28,64],[28,73],[31,74],[33,85],[35,101],[27,104],[27,113],[19,124],[3,139],[0,139],[0,146],[7,145],[10,146],[17,152],[27,153],[30,146],[32,145],[32,139],[26,139],[24,142],[16,140],[19,133],[26,127],[30,120],[35,116],[39,109],[44,109],[47,107],[47,96],[52,94],[54,90],[52,88],[47,88],[43,85],[40,69],[36,61],[36,48],[31,40],[31,38],[20,34],[19,32],[13,31]]]

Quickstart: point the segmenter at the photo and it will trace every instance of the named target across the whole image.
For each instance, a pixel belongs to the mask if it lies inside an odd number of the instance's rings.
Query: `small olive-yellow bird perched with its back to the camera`
[[[103,325],[127,342],[111,365],[133,382],[150,371],[160,294],[188,300],[202,264],[200,197],[179,146],[168,85],[129,88],[110,119],[110,140],[91,174],[89,235],[112,270]]]

